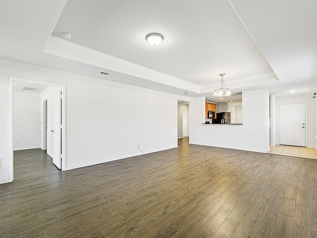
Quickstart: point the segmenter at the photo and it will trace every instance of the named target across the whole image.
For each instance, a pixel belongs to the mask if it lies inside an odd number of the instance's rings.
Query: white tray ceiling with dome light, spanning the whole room
[[[317,0],[0,4],[4,59],[214,102],[220,73],[232,93],[265,88],[313,96],[317,89]],[[159,46],[146,42],[151,32],[164,36]]]

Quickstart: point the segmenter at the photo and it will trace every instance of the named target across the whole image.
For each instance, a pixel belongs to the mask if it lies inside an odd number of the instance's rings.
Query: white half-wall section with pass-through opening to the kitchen
[[[195,98],[189,103],[189,143],[264,153],[269,151],[268,91],[243,92],[242,102],[243,125],[202,124],[205,122],[205,97]]]

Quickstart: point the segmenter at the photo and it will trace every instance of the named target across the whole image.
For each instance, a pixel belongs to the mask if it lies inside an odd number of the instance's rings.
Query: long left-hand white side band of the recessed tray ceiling
[[[43,52],[62,58],[107,68],[111,71],[129,74],[131,76],[147,79],[167,86],[180,88],[185,91],[191,91],[195,93],[200,93],[201,91],[200,85],[143,67],[126,60],[121,60],[116,57],[106,55],[104,53],[54,36],[50,36]]]

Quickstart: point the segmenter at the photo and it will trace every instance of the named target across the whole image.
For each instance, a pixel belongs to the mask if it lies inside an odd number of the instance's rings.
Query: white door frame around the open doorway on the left
[[[66,169],[66,85],[63,84],[56,84],[56,83],[49,83],[49,82],[43,82],[43,81],[35,81],[35,80],[30,80],[30,79],[24,79],[24,78],[17,78],[17,77],[10,77],[9,76],[9,93],[8,93],[8,116],[9,116],[9,121],[8,121],[8,130],[9,130],[9,151],[8,151],[8,178],[9,182],[13,181],[13,82],[25,82],[25,83],[34,83],[34,84],[40,84],[40,85],[47,85],[47,86],[55,86],[55,87],[60,87],[60,90],[63,95],[63,100],[62,100],[62,133],[61,133],[61,153],[62,153],[62,158],[61,158],[61,170],[64,171]],[[43,118],[43,115],[41,115]],[[43,138],[41,138],[42,140]]]

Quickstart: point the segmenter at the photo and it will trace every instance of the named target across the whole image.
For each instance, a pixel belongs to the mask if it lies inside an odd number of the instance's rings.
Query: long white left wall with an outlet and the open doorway
[[[1,59],[1,145],[10,178],[9,80],[66,85],[66,170],[177,147],[177,100],[188,97]],[[89,155],[93,149],[94,154]]]

